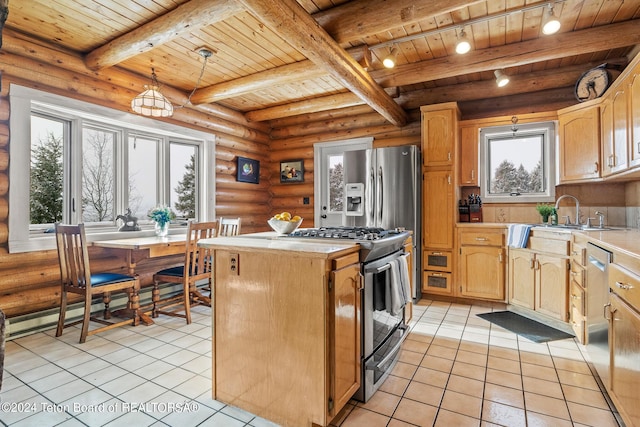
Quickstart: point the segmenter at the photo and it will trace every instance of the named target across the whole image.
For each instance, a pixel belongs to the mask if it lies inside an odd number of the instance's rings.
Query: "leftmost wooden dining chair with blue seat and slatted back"
[[[84,224],[63,225],[56,224],[56,243],[58,260],[60,261],[60,316],[56,336],[62,335],[64,328],[82,323],[80,342],[86,341],[88,335],[116,328],[123,325],[137,326],[140,323],[140,281],[135,276],[119,273],[91,274],[89,254],[86,246]],[[109,321],[111,312],[109,303],[111,293],[123,291],[129,298],[127,312],[131,319],[120,322]],[[67,294],[82,295],[84,299],[84,316],[81,320],[65,325],[67,312]],[[91,315],[91,302],[94,296],[101,296],[104,303],[103,318]],[[94,321],[105,326],[89,330],[89,322]]]

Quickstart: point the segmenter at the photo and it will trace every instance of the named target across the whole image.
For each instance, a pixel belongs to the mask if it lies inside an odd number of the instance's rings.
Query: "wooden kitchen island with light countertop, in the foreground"
[[[256,233],[212,248],[213,398],[283,426],[326,426],[360,386],[353,242]]]

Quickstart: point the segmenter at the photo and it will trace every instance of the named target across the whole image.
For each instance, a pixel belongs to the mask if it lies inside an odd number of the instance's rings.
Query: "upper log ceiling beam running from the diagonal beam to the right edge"
[[[521,43],[475,50],[466,55],[447,56],[405,64],[392,71],[371,72],[382,86],[405,86],[461,74],[480,73],[509,67],[551,61],[640,43],[640,19],[555,34]]]

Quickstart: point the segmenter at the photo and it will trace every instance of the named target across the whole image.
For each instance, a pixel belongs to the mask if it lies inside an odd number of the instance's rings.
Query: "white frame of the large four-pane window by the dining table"
[[[119,141],[115,147],[114,163],[117,175],[123,177],[124,182],[118,177],[120,188],[116,191],[117,200],[114,205],[117,213],[121,206],[127,204],[127,141],[129,133],[160,137],[165,150],[170,150],[172,143],[188,144],[197,147],[196,169],[198,173],[198,200],[196,200],[196,217],[201,220],[215,218],[215,135],[178,126],[172,123],[158,121],[132,113],[114,110],[96,104],[67,98],[40,90],[12,84],[9,89],[11,101],[11,115],[9,125],[11,130],[9,170],[9,252],[29,252],[36,250],[55,249],[55,239],[51,233],[30,232],[29,224],[29,197],[30,194],[30,170],[31,170],[31,114],[37,110],[37,114],[52,116],[55,119],[69,120],[70,122],[70,157],[65,158],[65,169],[69,167],[66,162],[77,161],[78,155],[82,155],[80,144],[82,142],[83,123],[95,127],[118,130]],[[79,144],[73,143],[80,142]],[[65,147],[65,149],[67,149]],[[168,153],[160,158],[163,167],[168,172]],[[63,211],[67,210],[66,218],[72,223],[82,221],[81,210],[70,212],[71,201],[67,199],[67,193],[75,197],[82,195],[82,169],[71,168],[71,174],[65,171],[64,188],[65,201]],[[161,175],[161,173],[158,173]],[[168,178],[167,178],[168,179]],[[164,181],[164,179],[159,179]],[[160,186],[162,193],[158,196],[160,203],[170,200],[170,184]],[[124,190],[124,193],[123,193]],[[27,197],[25,197],[27,195]],[[78,201],[76,201],[78,203]],[[81,203],[81,202],[80,202]],[[139,216],[139,213],[138,213]],[[146,223],[146,224],[145,224]],[[87,223],[87,239],[89,241],[105,240],[123,237],[151,236],[153,227],[146,218],[140,218],[141,231],[123,232],[117,231],[116,221],[112,223]],[[174,232],[181,233],[185,228],[176,226]]]

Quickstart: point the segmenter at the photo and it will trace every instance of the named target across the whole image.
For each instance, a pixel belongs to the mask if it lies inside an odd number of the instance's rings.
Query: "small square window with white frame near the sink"
[[[484,202],[549,202],[555,198],[553,122],[480,131]]]

